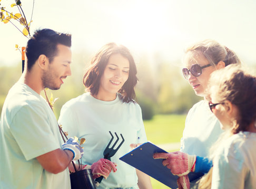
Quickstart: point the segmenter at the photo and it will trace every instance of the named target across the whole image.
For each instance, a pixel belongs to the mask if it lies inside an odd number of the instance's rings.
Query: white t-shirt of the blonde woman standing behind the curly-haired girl
[[[206,157],[211,145],[222,132],[220,122],[211,112],[208,101],[202,100],[194,104],[186,117],[180,151]]]

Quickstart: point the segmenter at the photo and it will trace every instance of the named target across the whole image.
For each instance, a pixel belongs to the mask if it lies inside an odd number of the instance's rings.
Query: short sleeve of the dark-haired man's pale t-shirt
[[[15,114],[10,131],[26,160],[60,148],[50,124],[40,104],[25,105]]]

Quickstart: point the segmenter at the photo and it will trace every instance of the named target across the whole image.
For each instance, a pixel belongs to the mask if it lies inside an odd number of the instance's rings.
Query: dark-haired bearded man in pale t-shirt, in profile
[[[35,31],[24,72],[9,90],[0,119],[0,188],[70,188],[67,166],[83,149],[63,143],[54,113],[40,96],[71,75],[71,35]]]

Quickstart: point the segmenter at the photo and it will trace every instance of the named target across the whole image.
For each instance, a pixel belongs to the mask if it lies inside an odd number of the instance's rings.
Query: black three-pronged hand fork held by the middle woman
[[[110,132],[110,131],[109,131],[109,132]],[[112,134],[111,132],[110,132],[110,134],[111,134],[111,140],[110,140],[109,144],[107,144],[107,146],[106,146],[106,148],[105,148],[105,150],[104,150],[104,152],[103,152],[104,159],[107,159],[107,160],[110,160],[110,158],[111,158],[113,155],[115,155],[115,153],[117,152],[117,150],[119,150],[119,148],[121,147],[121,145],[124,143],[123,135],[120,134],[121,137],[122,137],[122,142],[119,144],[119,146],[117,146],[116,149],[114,149],[116,143],[119,141],[119,137],[117,136],[117,134],[116,134],[116,132],[115,132],[115,135],[116,135],[116,138],[117,138],[117,139],[116,139],[115,143],[112,145],[112,147],[109,148],[109,147],[110,147],[110,144],[112,143],[112,141],[113,141],[113,139],[114,139],[113,134]],[[101,181],[102,181],[102,178],[103,178],[103,176],[100,176],[99,178],[96,178],[96,180],[95,180],[96,186],[99,186],[99,185],[100,185],[100,183],[101,183]]]

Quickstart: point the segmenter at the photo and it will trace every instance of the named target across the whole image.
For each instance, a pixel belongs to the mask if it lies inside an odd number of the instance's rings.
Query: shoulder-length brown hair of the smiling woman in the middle
[[[101,77],[104,73],[107,63],[109,62],[110,56],[113,54],[120,54],[129,60],[129,77],[118,92],[122,95],[123,102],[134,102],[134,87],[138,80],[136,77],[137,69],[130,50],[123,45],[109,43],[104,45],[99,50],[99,52],[92,58],[91,65],[83,77],[84,86],[88,92],[91,92],[92,95],[97,95],[100,88]]]

